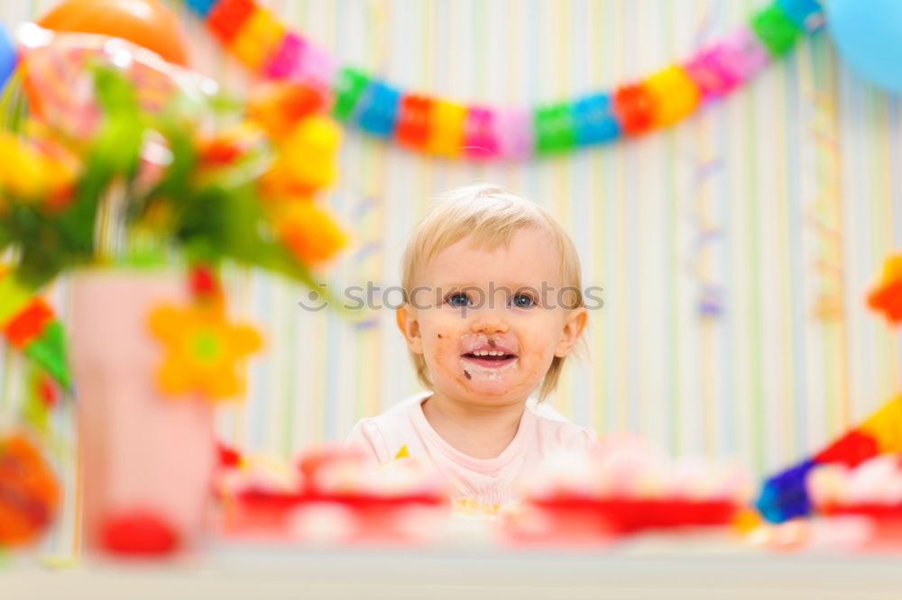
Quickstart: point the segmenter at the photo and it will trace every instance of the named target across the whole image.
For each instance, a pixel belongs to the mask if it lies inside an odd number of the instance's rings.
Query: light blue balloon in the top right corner
[[[861,77],[902,92],[902,2],[831,0],[826,8],[840,56]]]

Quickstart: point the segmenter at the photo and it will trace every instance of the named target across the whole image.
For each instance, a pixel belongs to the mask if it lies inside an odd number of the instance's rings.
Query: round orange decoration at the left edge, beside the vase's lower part
[[[31,543],[52,523],[60,486],[22,434],[0,437],[0,548]]]

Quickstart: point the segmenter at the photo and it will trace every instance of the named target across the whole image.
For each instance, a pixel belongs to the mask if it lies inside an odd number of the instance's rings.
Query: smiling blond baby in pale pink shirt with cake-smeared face
[[[538,205],[498,186],[448,192],[414,228],[403,257],[397,323],[430,390],[348,438],[384,463],[433,463],[457,499],[502,505],[514,483],[592,430],[527,406],[557,386],[583,333],[579,258]]]

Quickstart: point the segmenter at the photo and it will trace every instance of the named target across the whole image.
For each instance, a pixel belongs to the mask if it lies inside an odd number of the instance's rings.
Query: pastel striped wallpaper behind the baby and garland
[[[52,2],[0,5],[5,26]],[[324,0],[267,3],[342,62],[400,86],[534,105],[664,67],[741,23],[759,0]],[[198,70],[241,93],[223,57],[175,3]],[[349,131],[327,195],[355,234],[328,278],[399,282],[405,233],[429,198],[490,180],[557,215],[603,286],[584,360],[551,400],[598,432],[643,433],[677,452],[761,473],[812,450],[899,388],[896,334],[863,297],[902,246],[897,98],[836,57],[825,32],[720,104],[666,132],[522,164],[477,165]],[[305,291],[241,269],[235,311],[269,352],[247,402],[222,412],[235,443],[285,459],[343,438],[419,388],[393,314],[305,313]],[[65,284],[53,295],[65,314]],[[719,314],[704,316],[701,301]],[[0,350],[2,352],[2,350]],[[3,355],[0,406],[18,383]],[[58,417],[66,425],[66,415]],[[8,420],[8,415],[7,415]]]

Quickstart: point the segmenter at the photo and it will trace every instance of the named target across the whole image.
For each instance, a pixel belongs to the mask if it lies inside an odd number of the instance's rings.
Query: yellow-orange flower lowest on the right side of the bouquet
[[[347,244],[332,215],[308,200],[284,203],[273,209],[273,217],[282,243],[307,264],[332,259]]]

